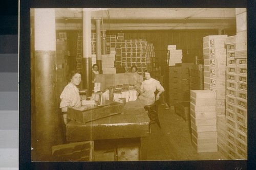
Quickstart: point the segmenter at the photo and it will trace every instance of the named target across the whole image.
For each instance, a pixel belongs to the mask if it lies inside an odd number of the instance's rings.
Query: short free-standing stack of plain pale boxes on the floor
[[[190,91],[191,141],[197,152],[217,152],[216,93]]]

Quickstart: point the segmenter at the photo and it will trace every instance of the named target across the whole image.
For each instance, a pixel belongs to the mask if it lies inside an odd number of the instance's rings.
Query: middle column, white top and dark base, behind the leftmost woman
[[[87,89],[87,95],[92,95],[92,39],[91,11],[83,9],[82,18],[82,88]]]

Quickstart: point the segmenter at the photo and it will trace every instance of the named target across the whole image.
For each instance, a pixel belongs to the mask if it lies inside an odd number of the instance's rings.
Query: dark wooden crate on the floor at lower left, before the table
[[[52,147],[53,161],[93,161],[94,142],[83,141]]]

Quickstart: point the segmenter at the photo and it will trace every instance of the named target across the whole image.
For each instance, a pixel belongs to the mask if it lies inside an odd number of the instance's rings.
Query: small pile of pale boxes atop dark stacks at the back
[[[176,45],[168,45],[167,50],[167,63],[169,66],[182,62],[182,50],[176,50]]]

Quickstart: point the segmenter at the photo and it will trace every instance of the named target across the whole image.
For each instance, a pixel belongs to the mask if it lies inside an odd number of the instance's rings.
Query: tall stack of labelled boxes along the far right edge
[[[246,9],[236,9],[237,35],[226,38],[227,149],[230,159],[247,159]]]

